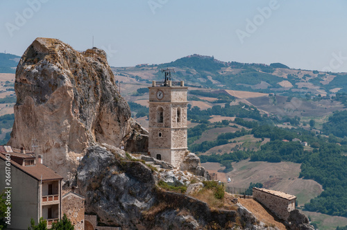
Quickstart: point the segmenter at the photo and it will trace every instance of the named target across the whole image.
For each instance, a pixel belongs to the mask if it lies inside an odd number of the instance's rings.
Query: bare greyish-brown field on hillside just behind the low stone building
[[[223,169],[219,163],[203,163],[202,165],[209,172]],[[320,184],[311,179],[298,178],[301,172],[300,167],[300,163],[244,160],[232,163],[233,170],[220,173],[219,178],[230,177],[231,182],[227,186],[235,188],[248,188],[251,182],[262,183],[265,188],[296,195],[298,206],[303,206],[319,195],[323,189]]]

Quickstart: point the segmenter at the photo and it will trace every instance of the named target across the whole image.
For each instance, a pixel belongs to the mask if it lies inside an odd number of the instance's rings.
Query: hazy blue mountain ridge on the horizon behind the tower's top
[[[198,54],[163,64],[114,67],[113,70],[116,75],[150,82],[162,80],[160,69],[163,68],[174,68],[174,80],[185,80],[187,85],[195,87],[257,91],[301,98],[347,93],[347,73],[290,69],[278,62],[269,65],[222,62],[213,56]]]

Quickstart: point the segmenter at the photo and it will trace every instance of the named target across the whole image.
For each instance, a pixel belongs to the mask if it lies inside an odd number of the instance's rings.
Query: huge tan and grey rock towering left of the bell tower
[[[80,53],[58,39],[37,38],[19,61],[15,91],[8,144],[37,145],[44,163],[65,179],[76,172],[76,157],[95,142],[146,151],[148,132],[130,118],[100,49]]]

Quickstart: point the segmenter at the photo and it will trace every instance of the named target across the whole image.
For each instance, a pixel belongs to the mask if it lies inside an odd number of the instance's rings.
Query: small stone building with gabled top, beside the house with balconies
[[[62,213],[71,220],[75,230],[85,229],[85,197],[72,191],[63,195]]]

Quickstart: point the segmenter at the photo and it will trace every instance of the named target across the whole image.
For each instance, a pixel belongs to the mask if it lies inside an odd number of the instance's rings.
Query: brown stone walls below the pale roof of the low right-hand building
[[[270,209],[278,218],[287,220],[289,213],[295,209],[295,199],[287,200],[276,195],[253,188],[253,199]]]

